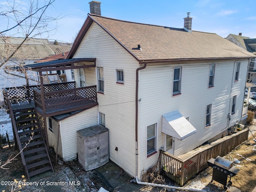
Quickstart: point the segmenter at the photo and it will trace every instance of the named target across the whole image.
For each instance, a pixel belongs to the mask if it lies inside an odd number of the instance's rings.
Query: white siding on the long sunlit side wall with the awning
[[[225,128],[227,129],[234,125],[236,120],[239,120],[239,114],[242,114],[248,61],[244,60],[240,63],[240,80],[236,84],[232,84],[233,73],[236,70],[234,61],[216,62],[214,88],[211,89],[208,88],[209,63],[179,64],[178,66],[182,66],[182,94],[178,97],[170,97],[173,84],[173,77],[170,74],[173,74],[174,64],[148,65],[145,69],[140,70],[138,98],[141,100],[139,102],[138,135],[142,150],[139,151],[139,170],[146,170],[156,163],[158,158],[155,156],[147,158],[145,127],[154,123],[158,124],[156,133],[158,148],[156,150],[164,147],[164,134],[161,127],[162,114],[179,110],[184,117],[189,117],[189,122],[196,128],[195,134],[183,140],[174,138],[174,155],[189,152],[222,133]],[[152,90],[154,91],[152,92]],[[230,93],[237,95],[236,113],[228,122],[227,115],[232,107]],[[210,103],[212,104],[211,126],[206,129],[206,106]]]

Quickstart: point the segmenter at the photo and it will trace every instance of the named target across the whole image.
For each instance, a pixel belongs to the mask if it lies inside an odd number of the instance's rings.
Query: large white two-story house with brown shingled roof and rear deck
[[[141,179],[160,149],[179,156],[226,136],[241,120],[254,55],[191,23],[189,14],[184,28],[88,14],[65,60],[27,66],[40,75],[34,110],[49,146],[73,160],[77,131],[100,124],[110,160]],[[74,69],[72,88],[42,83],[42,72],[66,69]]]

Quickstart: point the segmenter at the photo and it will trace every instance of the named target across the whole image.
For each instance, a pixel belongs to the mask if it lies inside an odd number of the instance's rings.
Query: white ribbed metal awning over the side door
[[[196,128],[179,111],[162,115],[162,133],[182,140],[196,132]]]

